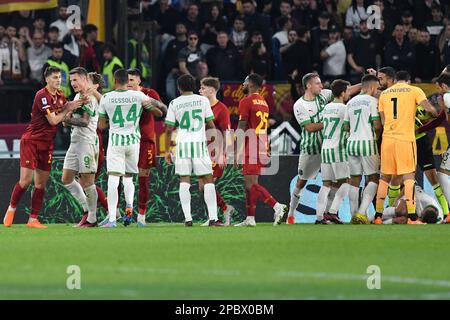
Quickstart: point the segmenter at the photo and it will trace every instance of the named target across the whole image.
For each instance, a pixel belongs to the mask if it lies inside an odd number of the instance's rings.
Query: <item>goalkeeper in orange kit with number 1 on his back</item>
[[[437,112],[425,93],[409,84],[407,72],[397,72],[397,83],[383,91],[379,99],[379,112],[383,123],[381,144],[381,177],[377,190],[375,224],[382,223],[384,200],[392,176],[398,176],[405,185],[408,223],[416,224],[414,175],[417,164],[415,115],[417,105],[434,117]]]

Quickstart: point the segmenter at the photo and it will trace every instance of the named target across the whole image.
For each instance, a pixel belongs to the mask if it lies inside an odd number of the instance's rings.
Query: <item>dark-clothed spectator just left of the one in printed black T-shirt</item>
[[[166,95],[168,99],[176,98],[177,84],[176,80],[180,74],[178,65],[178,54],[187,46],[187,30],[183,22],[178,22],[175,27],[176,38],[171,40],[164,55],[164,70],[166,77]]]

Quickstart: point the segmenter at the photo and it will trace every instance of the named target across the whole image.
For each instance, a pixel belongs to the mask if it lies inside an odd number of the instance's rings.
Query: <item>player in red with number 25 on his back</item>
[[[245,136],[250,133],[251,136],[256,137],[256,141],[248,141],[246,138],[242,139],[243,141],[238,139],[235,163],[243,160],[242,174],[245,183],[247,218],[237,224],[237,227],[256,226],[255,214],[258,200],[274,209],[274,225],[280,224],[283,215],[288,211],[286,205],[276,201],[267,189],[258,183],[258,177],[265,164],[264,160],[269,158],[267,137],[269,106],[259,94],[263,82],[263,78],[256,73],[247,76],[243,84],[243,92],[247,96],[239,102],[238,132],[245,132]]]

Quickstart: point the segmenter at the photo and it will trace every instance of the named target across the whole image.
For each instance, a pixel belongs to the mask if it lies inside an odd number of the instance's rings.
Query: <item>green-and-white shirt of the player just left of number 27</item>
[[[294,104],[294,115],[302,134],[300,139],[301,154],[319,154],[322,147],[322,131],[309,132],[303,128],[309,123],[319,123],[322,121],[321,113],[325,105],[333,100],[331,90],[323,89],[314,100],[305,100],[304,97],[298,99]]]

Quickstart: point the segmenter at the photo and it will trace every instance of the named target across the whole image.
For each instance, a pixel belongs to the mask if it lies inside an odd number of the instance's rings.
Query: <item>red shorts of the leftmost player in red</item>
[[[20,140],[20,166],[31,170],[51,171],[53,142]]]

